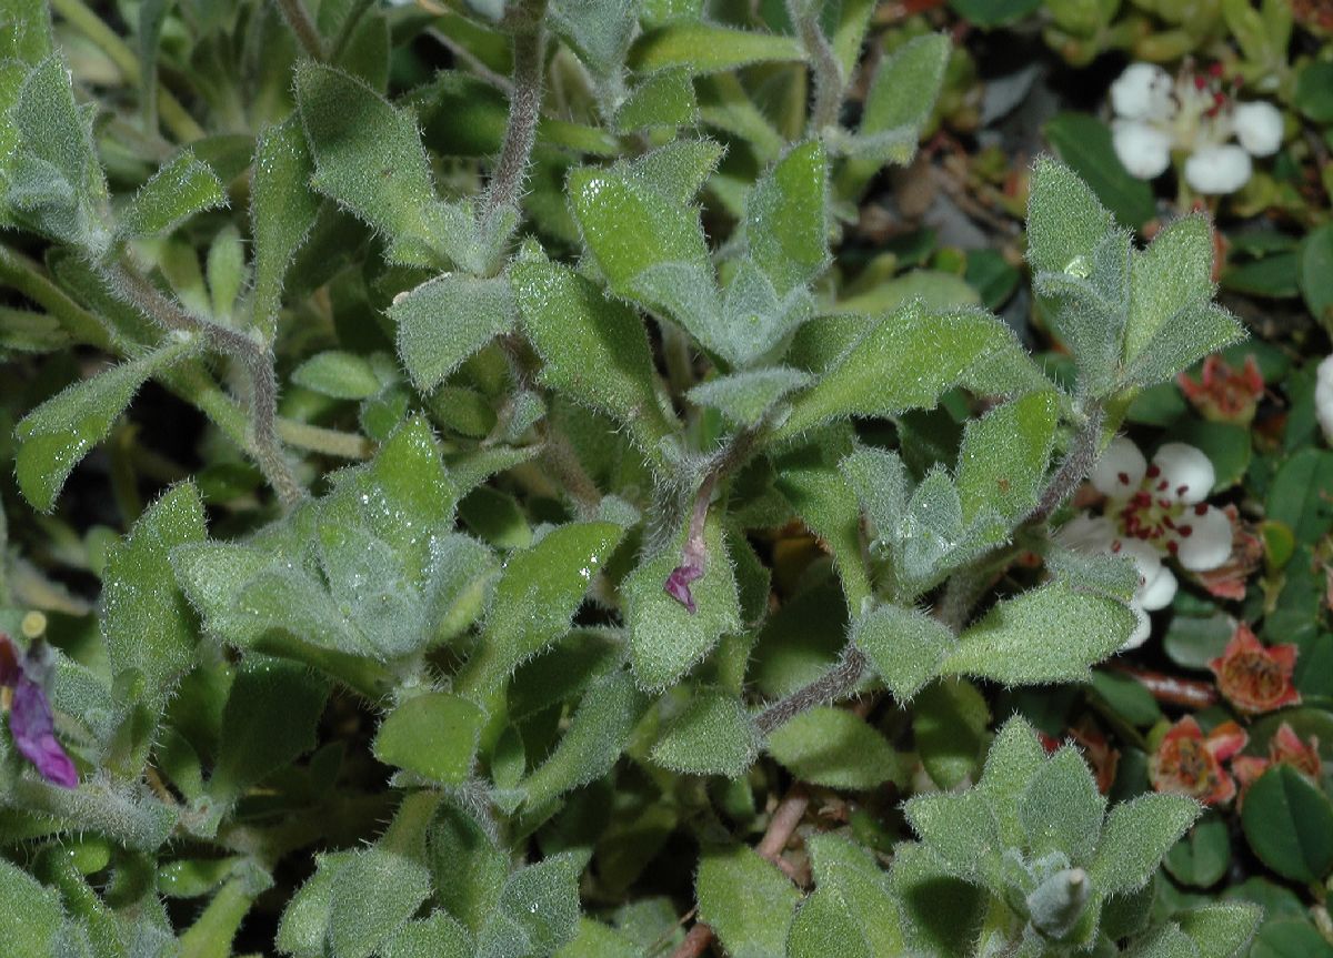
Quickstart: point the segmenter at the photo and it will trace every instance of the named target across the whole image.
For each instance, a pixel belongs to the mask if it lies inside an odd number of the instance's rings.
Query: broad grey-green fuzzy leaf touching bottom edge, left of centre
[[[381,847],[351,855],[329,889],[328,945],[335,958],[369,958],[431,894],[431,873]]]

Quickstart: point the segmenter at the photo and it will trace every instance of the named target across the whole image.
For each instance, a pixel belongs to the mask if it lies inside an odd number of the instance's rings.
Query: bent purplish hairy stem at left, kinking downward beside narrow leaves
[[[148,318],[165,329],[197,333],[211,348],[241,364],[251,381],[251,453],[283,505],[289,508],[300,502],[305,490],[277,441],[277,377],[272,352],[239,329],[191,316],[124,262],[104,264],[100,270],[112,290]]]

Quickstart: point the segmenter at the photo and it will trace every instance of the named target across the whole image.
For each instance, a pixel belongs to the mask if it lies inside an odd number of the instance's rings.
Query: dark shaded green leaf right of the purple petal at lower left
[[[209,793],[228,801],[316,745],[329,682],[295,662],[247,654],[232,682]]]

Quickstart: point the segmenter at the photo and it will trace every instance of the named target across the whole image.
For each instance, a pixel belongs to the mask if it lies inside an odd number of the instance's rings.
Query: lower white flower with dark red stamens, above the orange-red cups
[[[1333,402],[1333,366],[1329,372]],[[1061,528],[1060,541],[1070,549],[1134,561],[1138,589],[1130,609],[1137,624],[1125,649],[1144,644],[1152,630],[1148,613],[1176,597],[1176,576],[1164,557],[1174,557],[1192,572],[1216,569],[1230,558],[1232,524],[1226,513],[1204,501],[1216,474],[1208,456],[1194,446],[1165,442],[1148,462],[1138,446],[1117,437],[1089,477],[1106,497],[1102,514],[1076,516]]]

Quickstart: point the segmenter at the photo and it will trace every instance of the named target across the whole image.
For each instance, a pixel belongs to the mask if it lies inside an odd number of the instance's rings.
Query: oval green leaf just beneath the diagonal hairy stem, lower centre
[[[830,789],[873,789],[904,774],[884,735],[832,706],[784,722],[769,734],[768,751],[797,778]]]

